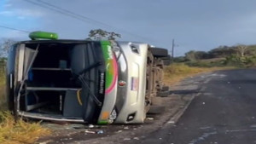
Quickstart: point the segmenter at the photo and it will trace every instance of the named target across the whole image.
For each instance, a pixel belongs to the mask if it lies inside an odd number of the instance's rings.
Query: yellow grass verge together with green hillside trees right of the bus
[[[202,72],[255,67],[256,45],[219,46],[207,52],[191,50],[173,60],[165,68],[165,84],[176,84]]]

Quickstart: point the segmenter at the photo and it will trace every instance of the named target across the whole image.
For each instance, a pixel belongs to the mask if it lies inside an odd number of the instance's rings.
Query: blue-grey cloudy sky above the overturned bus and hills
[[[256,44],[253,0],[29,0],[44,7],[27,1],[0,0],[0,26],[56,32],[61,39],[84,39],[90,30],[101,28],[120,33],[122,41],[166,49],[171,49],[174,38],[175,56],[220,45]],[[86,20],[46,9],[45,3]],[[0,38],[27,40],[27,36],[0,27]]]

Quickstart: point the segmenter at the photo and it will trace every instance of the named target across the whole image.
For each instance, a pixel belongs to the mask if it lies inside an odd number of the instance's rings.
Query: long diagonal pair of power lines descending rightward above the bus
[[[131,32],[126,32],[125,30],[119,29],[119,28],[114,27],[114,26],[110,26],[110,25],[105,24],[105,23],[103,23],[101,21],[98,21],[98,20],[90,19],[89,17],[85,17],[84,15],[81,15],[81,14],[73,13],[72,11],[70,11],[68,9],[60,8],[60,7],[55,6],[54,4],[51,4],[51,3],[46,3],[46,2],[43,2],[41,0],[38,0],[39,3],[35,3],[32,0],[23,0],[23,1],[26,1],[27,3],[32,3],[34,5],[42,7],[44,9],[50,9],[52,11],[55,11],[55,12],[59,13],[59,14],[64,14],[65,16],[72,17],[73,19],[82,20],[84,22],[94,23],[94,24],[97,24],[97,25],[100,25],[100,26],[104,26],[104,27],[108,27],[108,28],[113,28],[113,29],[116,29],[119,32],[124,32],[124,33],[129,34],[129,35],[134,36],[134,37],[140,37],[140,38],[145,39],[145,40],[146,39],[150,40],[147,37],[141,37],[141,36],[139,36],[137,34],[134,34],[134,33],[131,33]],[[150,40],[150,41],[152,41],[152,40]]]

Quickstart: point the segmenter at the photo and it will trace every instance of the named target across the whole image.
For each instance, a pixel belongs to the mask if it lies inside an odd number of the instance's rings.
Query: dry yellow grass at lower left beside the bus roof
[[[43,128],[40,123],[26,122],[21,118],[15,123],[13,115],[4,111],[6,98],[3,73],[0,71],[0,143],[31,144],[37,141],[39,137],[49,135],[50,130]]]

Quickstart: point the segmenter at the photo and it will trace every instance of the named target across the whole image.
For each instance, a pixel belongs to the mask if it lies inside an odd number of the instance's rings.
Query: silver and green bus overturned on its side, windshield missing
[[[143,123],[170,62],[166,49],[147,43],[30,37],[9,49],[7,96],[16,117]]]

